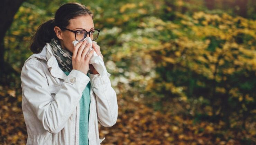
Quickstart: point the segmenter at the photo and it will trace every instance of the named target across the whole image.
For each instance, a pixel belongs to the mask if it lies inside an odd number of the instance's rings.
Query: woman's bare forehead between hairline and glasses
[[[67,26],[69,29],[83,28],[89,31],[94,27],[92,17],[89,15],[76,17],[75,19],[69,20],[69,22],[70,25]]]

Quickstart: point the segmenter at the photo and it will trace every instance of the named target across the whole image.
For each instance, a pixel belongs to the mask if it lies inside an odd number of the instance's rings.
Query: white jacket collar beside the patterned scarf
[[[67,75],[58,66],[57,59],[53,55],[53,52],[49,43],[46,43],[46,45],[43,47],[40,53],[31,55],[27,60],[29,60],[30,58],[38,58],[38,59],[47,61],[47,68],[51,72],[52,76],[63,79],[63,80],[66,79]]]

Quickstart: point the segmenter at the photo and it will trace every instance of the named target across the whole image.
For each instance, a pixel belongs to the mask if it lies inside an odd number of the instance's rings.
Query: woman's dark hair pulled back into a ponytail
[[[30,41],[30,50],[37,54],[41,52],[46,43],[51,42],[53,38],[59,41],[54,31],[55,26],[63,30],[62,27],[65,28],[70,24],[70,19],[75,19],[78,16],[86,16],[88,14],[93,18],[92,12],[80,3],[70,2],[63,4],[56,11],[54,19],[44,22],[37,28],[36,33]]]

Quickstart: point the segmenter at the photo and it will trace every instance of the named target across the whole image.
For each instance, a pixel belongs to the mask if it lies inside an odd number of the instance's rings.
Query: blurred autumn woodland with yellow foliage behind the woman
[[[21,68],[66,2],[101,30],[119,105],[103,145],[256,144],[255,0],[2,0],[0,144],[26,144]]]

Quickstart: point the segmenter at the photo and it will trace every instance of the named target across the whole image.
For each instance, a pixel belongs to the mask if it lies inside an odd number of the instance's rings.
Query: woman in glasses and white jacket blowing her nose
[[[99,138],[98,120],[105,127],[116,124],[110,74],[101,76],[89,64],[94,50],[103,59],[100,47],[93,43],[89,51],[82,41],[98,38],[92,19],[85,6],[66,3],[33,36],[34,54],[21,71],[27,145],[99,145],[105,138]],[[74,47],[74,40],[81,42]]]

